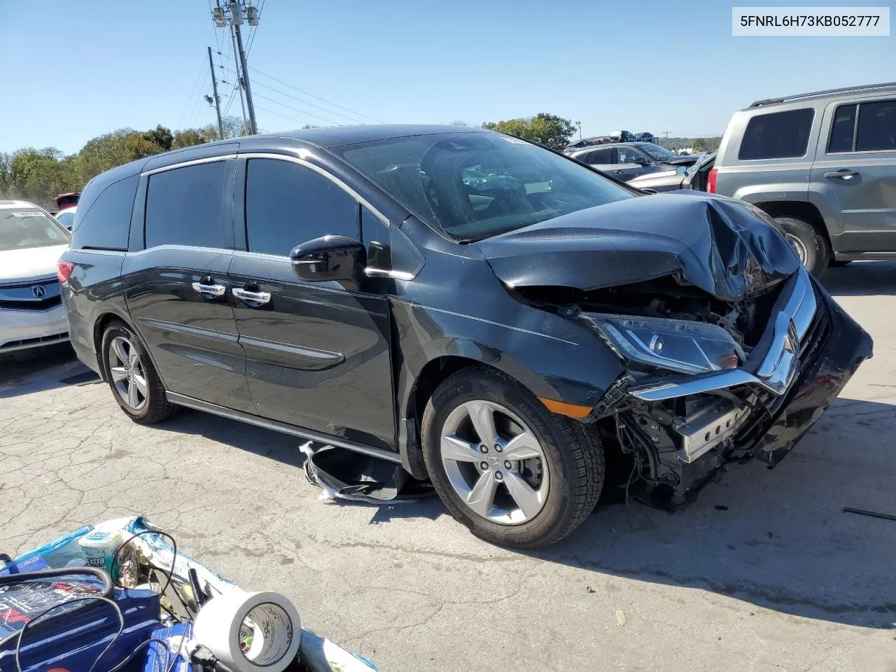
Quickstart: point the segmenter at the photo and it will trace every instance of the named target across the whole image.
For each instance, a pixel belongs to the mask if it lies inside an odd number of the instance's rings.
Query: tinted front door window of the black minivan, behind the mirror
[[[246,239],[250,252],[287,255],[322,236],[358,238],[358,202],[332,180],[297,163],[249,159]]]

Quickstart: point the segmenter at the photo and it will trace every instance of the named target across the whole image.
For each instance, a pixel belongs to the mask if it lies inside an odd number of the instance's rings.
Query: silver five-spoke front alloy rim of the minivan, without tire
[[[442,464],[454,492],[489,521],[519,525],[547,502],[544,448],[529,426],[494,401],[467,401],[442,427]]]

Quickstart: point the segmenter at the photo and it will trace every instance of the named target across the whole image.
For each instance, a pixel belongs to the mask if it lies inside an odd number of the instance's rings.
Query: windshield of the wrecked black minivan
[[[417,135],[333,151],[461,242],[633,197],[589,168],[502,134]]]

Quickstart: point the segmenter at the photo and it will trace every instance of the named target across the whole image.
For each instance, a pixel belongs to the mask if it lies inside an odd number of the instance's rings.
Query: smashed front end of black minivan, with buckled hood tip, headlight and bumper
[[[706,199],[682,210],[686,245],[680,220],[667,245],[649,238],[662,274],[628,266],[613,284],[606,268],[575,265],[562,283],[507,283],[598,333],[623,361],[587,421],[633,458],[655,504],[681,503],[729,461],[780,462],[872,354],[868,334],[762,217]],[[495,254],[499,275],[513,271],[508,259]]]

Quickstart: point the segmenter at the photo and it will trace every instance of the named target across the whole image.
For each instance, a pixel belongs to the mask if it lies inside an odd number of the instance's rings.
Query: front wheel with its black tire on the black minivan
[[[492,445],[479,441],[488,432],[472,419],[487,427],[482,418],[489,413]],[[588,517],[603,487],[597,433],[554,415],[494,369],[476,366],[445,379],[426,403],[421,436],[426,469],[448,511],[477,537],[502,546],[555,544]],[[493,504],[483,504],[489,496]]]

